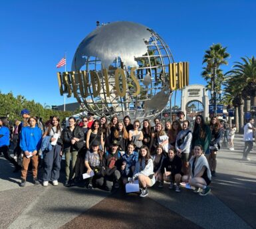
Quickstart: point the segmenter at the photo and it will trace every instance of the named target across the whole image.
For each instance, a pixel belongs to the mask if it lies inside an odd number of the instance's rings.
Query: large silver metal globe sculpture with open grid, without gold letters
[[[90,81],[90,71],[100,77],[101,90],[94,98],[92,86],[83,98],[77,90],[80,106],[87,112],[110,119],[129,115],[132,120],[154,119],[170,100],[168,65],[174,62],[170,48],[152,29],[127,21],[108,23],[97,27],[80,42],[72,60],[72,71],[85,70]],[[134,81],[130,70],[140,83],[140,94],[134,94]],[[103,69],[108,70],[110,96],[106,96]],[[126,94],[116,93],[114,72],[122,68],[126,74]],[[122,80],[120,81],[122,82]],[[122,86],[122,85],[121,85]]]

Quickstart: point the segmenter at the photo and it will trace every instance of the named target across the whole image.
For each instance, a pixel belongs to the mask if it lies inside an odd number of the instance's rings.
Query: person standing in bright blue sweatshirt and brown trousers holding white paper
[[[21,129],[20,146],[23,151],[23,163],[21,170],[21,187],[25,187],[27,179],[27,170],[32,161],[33,183],[39,185],[37,179],[37,167],[39,163],[38,152],[41,147],[42,131],[37,127],[37,117],[29,117],[29,126]]]

